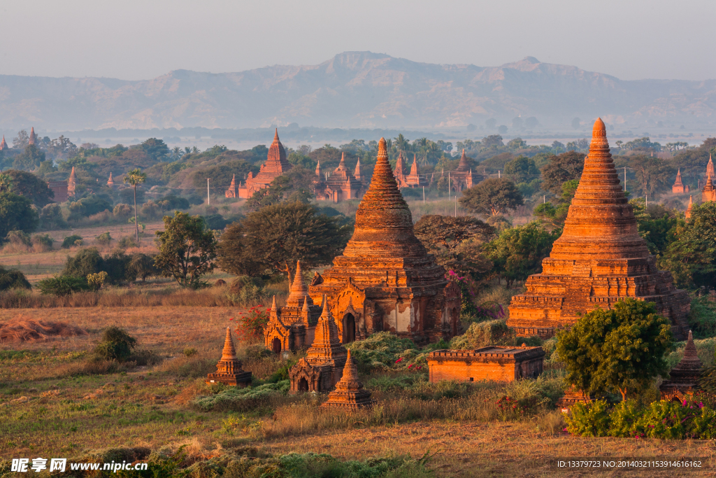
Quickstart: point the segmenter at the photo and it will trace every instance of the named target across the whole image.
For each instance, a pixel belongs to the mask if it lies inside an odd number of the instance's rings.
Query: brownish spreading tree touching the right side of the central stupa
[[[480,246],[495,234],[495,228],[470,216],[422,216],[415,223],[415,236],[437,262],[462,274],[483,274],[492,264]]]

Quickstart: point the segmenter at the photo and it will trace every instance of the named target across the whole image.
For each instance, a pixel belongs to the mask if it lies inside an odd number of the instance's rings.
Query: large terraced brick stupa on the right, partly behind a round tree
[[[508,325],[518,335],[551,337],[594,307],[611,309],[633,297],[654,302],[683,340],[690,300],[674,289],[670,272],[659,271],[624,196],[611,161],[606,128],[594,123],[584,173],[569,206],[564,231],[542,261],[542,273],[526,282],[527,291],[510,304]]]

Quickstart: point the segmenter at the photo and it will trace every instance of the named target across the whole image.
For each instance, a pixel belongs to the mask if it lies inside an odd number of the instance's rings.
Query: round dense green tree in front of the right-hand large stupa
[[[664,359],[672,343],[669,321],[652,302],[627,299],[613,310],[587,312],[557,336],[566,381],[593,393],[639,393],[668,368]]]

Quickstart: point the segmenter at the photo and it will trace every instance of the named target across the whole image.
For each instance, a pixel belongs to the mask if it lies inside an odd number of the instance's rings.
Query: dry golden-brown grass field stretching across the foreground
[[[427,467],[437,477],[589,476],[556,470],[548,463],[556,457],[707,457],[710,466],[716,464],[716,448],[707,441],[575,438],[561,431],[556,412],[505,421],[488,410],[490,403],[482,405],[483,395],[472,400],[472,412],[468,405],[455,401],[401,404],[380,391],[374,393],[379,400],[377,411],[355,416],[326,415],[317,408],[320,400],[305,396],[269,400],[243,412],[202,411],[190,402],[195,396],[211,396],[202,377],[214,370],[221,356],[223,331],[239,312],[237,307],[0,310],[0,323],[49,320],[87,331],[87,335],[69,338],[0,345],[0,460],[185,445],[194,459],[221,457],[247,446],[265,454],[312,451],[339,459],[427,453],[432,455]],[[139,348],[152,350],[161,361],[145,366],[92,365],[89,353],[110,325],[127,330],[137,338]],[[244,363],[259,379],[284,365],[274,357]],[[485,402],[492,396],[488,392],[492,393],[485,388]],[[424,408],[457,410],[462,406],[468,418],[411,418],[405,410],[417,402]],[[377,414],[384,417],[377,418]],[[601,474],[714,475],[711,469]]]

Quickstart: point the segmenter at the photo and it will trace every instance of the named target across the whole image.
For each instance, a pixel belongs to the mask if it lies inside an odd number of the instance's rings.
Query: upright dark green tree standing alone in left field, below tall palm
[[[199,287],[203,274],[212,272],[216,237],[199,216],[176,211],[164,216],[164,230],[157,231],[159,254],[155,265],[182,287]]]

